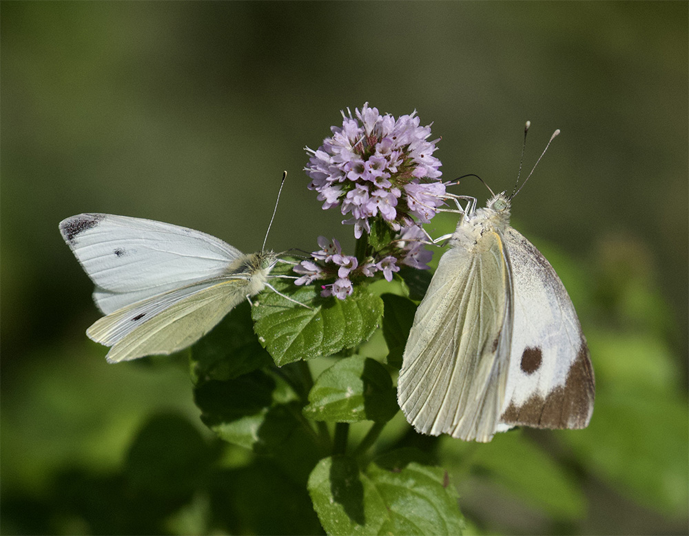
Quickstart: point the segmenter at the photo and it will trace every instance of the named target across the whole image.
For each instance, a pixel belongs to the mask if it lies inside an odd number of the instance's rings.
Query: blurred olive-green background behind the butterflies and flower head
[[[139,216],[255,251],[287,169],[269,247],[311,251],[324,234],[351,252],[351,227],[306,188],[303,147],[366,101],[418,110],[444,178],[495,190],[513,186],[524,121],[527,168],[562,130],[513,207],[570,289],[598,380],[598,432],[569,444],[597,477],[558,527],[686,533],[686,2],[0,10],[3,533],[99,532],[56,515],[56,497],[74,472],[117,471],[151,415],[184,415],[209,441],[183,363],[108,365],[85,337],[99,314],[59,221]],[[471,179],[455,192],[486,198]],[[485,530],[553,530],[547,508],[466,482]]]

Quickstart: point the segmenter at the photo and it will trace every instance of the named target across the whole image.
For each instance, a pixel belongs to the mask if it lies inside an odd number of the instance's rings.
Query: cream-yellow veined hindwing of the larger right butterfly
[[[409,333],[398,402],[422,433],[490,441],[500,417],[511,340],[503,242],[486,231],[442,256]]]

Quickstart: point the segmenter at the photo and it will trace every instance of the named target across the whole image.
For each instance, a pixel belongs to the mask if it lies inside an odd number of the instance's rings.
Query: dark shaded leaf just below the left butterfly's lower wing
[[[272,364],[258,343],[249,303],[235,307],[191,349],[192,381],[230,380]]]

